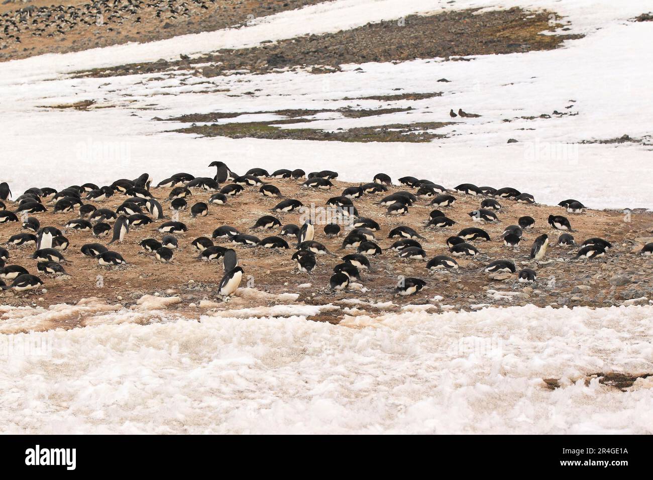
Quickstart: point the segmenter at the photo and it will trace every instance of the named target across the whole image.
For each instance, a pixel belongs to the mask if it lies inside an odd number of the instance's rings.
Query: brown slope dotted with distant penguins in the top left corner
[[[0,61],[242,27],[325,0],[31,0],[0,6]]]

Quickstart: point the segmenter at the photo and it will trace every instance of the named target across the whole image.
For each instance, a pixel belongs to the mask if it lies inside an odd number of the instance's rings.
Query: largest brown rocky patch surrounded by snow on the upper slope
[[[223,49],[181,61],[135,63],[79,72],[80,76],[116,76],[193,69],[213,77],[238,72],[267,73],[308,68],[316,74],[347,63],[408,61],[418,58],[459,59],[461,56],[550,50],[579,35],[541,35],[552,31],[551,12],[521,8],[477,13],[478,9],[367,24],[325,35],[309,35],[253,48]],[[210,65],[206,65],[210,63]]]

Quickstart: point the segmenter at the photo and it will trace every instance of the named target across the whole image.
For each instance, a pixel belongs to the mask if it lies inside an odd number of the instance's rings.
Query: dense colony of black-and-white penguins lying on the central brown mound
[[[396,187],[388,175],[380,173],[372,178],[372,182],[347,187],[340,195],[335,192],[334,197],[327,200],[326,206],[331,208],[339,222],[321,224],[309,218],[298,225],[285,223],[283,217],[288,214],[296,216],[305,205],[300,200],[284,197],[281,189],[274,185],[275,179],[290,179],[300,184],[302,189],[330,192],[334,187],[332,180],[338,177],[337,172],[323,170],[306,174],[300,169],[281,169],[270,173],[263,168],[251,168],[240,176],[219,161],[211,163],[209,167],[217,168],[215,176],[195,177],[177,173],[153,185],[150,175],[142,174],[136,179],[123,178],[103,187],[90,183],[72,185],[60,191],[51,187],[32,187],[16,198],[12,196],[10,185],[1,183],[0,233],[3,224],[14,222],[22,225],[22,232],[11,235],[5,241],[5,246],[0,247],[0,288],[15,291],[40,289],[44,285],[41,277],[66,274],[65,255],[70,245],[67,235],[71,232],[82,238],[88,236],[88,243],[82,245],[80,253],[88,261],[96,261],[106,268],[129,265],[129,259],[120,253],[123,242],[137,243],[142,251],[153,257],[153,261],[163,264],[174,263],[175,250],[185,242],[197,251],[197,261],[222,263],[221,280],[215,293],[224,297],[234,295],[245,276],[236,250],[231,247],[251,248],[251,253],[247,254],[249,260],[255,259],[257,249],[274,249],[281,255],[291,257],[296,264],[296,274],[311,276],[316,268],[326,266],[332,269],[332,275],[328,286],[324,287],[334,293],[347,291],[355,282],[364,283],[365,274],[374,272],[375,259],[379,255],[394,255],[416,265],[421,262],[424,274],[400,276],[393,288],[395,296],[414,295],[427,289],[429,282],[422,277],[436,271],[455,272],[458,268],[456,259],[460,258],[489,260],[480,268],[485,274],[509,272],[517,274],[520,283],[534,283],[537,281],[537,263],[544,261],[551,243],[574,248],[569,259],[575,261],[603,257],[612,247],[603,238],[577,242],[572,234],[575,231],[571,221],[566,216],[556,214],[558,210],[548,218],[549,233],[529,242],[530,253],[526,258],[530,259],[530,266],[534,268],[518,271],[515,261],[507,258],[493,260],[485,258],[488,256],[483,253],[484,242],[500,242],[505,248],[506,257],[515,256],[523,243],[524,231],[535,226],[535,220],[528,216],[500,219],[505,210],[503,204],[507,202],[535,203],[532,195],[512,187],[494,189],[460,184],[453,189],[445,189],[430,180],[411,176],[399,178],[397,182],[400,187]],[[207,216],[211,210],[228,208],[231,199],[246,189],[255,189],[261,197],[272,201],[268,208],[270,214],[261,216],[247,231],[240,231],[231,225],[216,225],[210,236],[197,236],[188,242],[185,238],[178,238],[185,237],[189,232],[186,223],[176,218],[181,212],[191,218]],[[394,193],[390,193],[390,190]],[[163,194],[165,191],[168,191],[167,196]],[[204,191],[210,197],[207,202],[194,202],[193,191]],[[479,200],[479,208],[468,212],[468,225],[456,225],[456,221],[447,216],[447,211],[455,208],[456,195]],[[368,216],[368,212],[358,211],[355,202],[363,196],[374,196],[377,200],[375,204],[382,211],[385,210],[383,216],[395,221],[413,206],[426,208],[430,213],[424,217],[421,225],[398,225],[388,232],[382,232],[379,217],[375,219]],[[110,199],[115,202],[116,197],[121,201],[118,208],[112,210],[103,206]],[[580,215],[585,210],[585,206],[574,199],[563,200],[559,207],[571,215]],[[65,214],[69,218],[61,225],[43,225],[39,216],[49,211]],[[219,213],[215,216],[219,217]],[[483,229],[485,224],[509,223],[510,220],[515,223],[504,227],[498,238],[491,238]],[[156,234],[137,240],[133,232],[141,229],[150,229]],[[433,255],[434,252],[429,254],[421,244],[421,240],[425,240],[424,235],[433,229],[451,230],[452,233],[447,238],[446,249],[435,252],[436,255]],[[552,236],[552,242],[549,238],[551,234],[557,235],[557,238]],[[342,238],[340,249],[336,251],[330,251],[320,241],[334,238],[338,238],[339,243]],[[12,263],[12,249],[33,249],[31,259],[35,261],[35,266]],[[653,256],[653,244],[646,244],[640,254]]]

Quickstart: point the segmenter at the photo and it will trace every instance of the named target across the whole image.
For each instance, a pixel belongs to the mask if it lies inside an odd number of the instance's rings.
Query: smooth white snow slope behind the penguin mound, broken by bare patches
[[[301,167],[307,171],[328,168],[338,170],[342,180],[358,182],[371,180],[383,170],[392,178],[411,174],[447,186],[462,182],[510,185],[549,204],[578,198],[591,208],[653,206],[653,191],[636,187],[640,179],[653,176],[647,147],[568,143],[653,133],[653,50],[647,46],[653,22],[626,22],[653,10],[653,1],[616,7],[607,1],[580,0],[536,4],[528,0],[340,0],[281,12],[242,29],[189,37],[220,39],[198,41],[193,51],[210,50],[300,33],[337,31],[412,12],[515,5],[555,10],[565,16],[562,20],[571,22],[571,33],[588,36],[547,52],[478,56],[468,62],[368,63],[362,65],[364,73],[355,71],[358,65],[349,65],[346,71],[323,75],[286,72],[206,79],[179,72],[165,80],[153,79],[152,75],[71,80],[61,75],[83,67],[172,56],[173,50],[188,53],[185,37],[0,63],[0,142],[4,158],[21,166],[5,171],[7,178],[3,180],[16,192],[34,186],[35,178],[39,178],[40,186],[61,188],[80,182],[109,184],[116,178],[135,178],[147,170],[155,180],[161,180],[180,170],[209,175],[213,172],[207,168],[211,161],[233,164],[237,159],[238,172],[255,166],[272,170]],[[435,81],[442,77],[451,82]],[[405,92],[443,91],[443,95],[415,103],[342,100],[397,93],[396,88]],[[221,89],[229,91],[216,91]],[[255,95],[242,95],[257,89],[261,91]],[[206,90],[211,93],[200,93]],[[112,108],[86,112],[39,108],[85,99]],[[193,138],[162,133],[182,124],[151,120],[154,116],[216,110],[255,112],[351,104],[362,108],[410,105],[414,109],[381,118],[326,118],[302,123],[302,128],[449,121],[450,108],[483,116],[440,129],[439,133],[449,138],[425,144]],[[565,108],[569,105],[571,109]],[[518,119],[553,110],[577,115]],[[514,120],[503,122],[505,118]],[[507,144],[508,138],[519,142]],[[123,155],[105,153],[97,159],[92,152],[98,149]]]

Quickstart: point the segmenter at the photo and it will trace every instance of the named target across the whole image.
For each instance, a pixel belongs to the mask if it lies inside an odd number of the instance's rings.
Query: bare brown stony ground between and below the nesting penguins
[[[208,174],[208,172],[206,172]],[[371,178],[370,178],[371,180]],[[300,188],[296,180],[269,179],[277,185],[287,198],[298,199],[306,206],[315,208],[325,206],[328,198],[340,195],[345,187],[352,184],[334,181],[332,191],[313,191]],[[497,185],[503,186],[503,185]],[[407,187],[392,186],[389,193]],[[166,214],[170,215],[170,204],[166,201],[169,189],[153,189],[153,195],[161,201]],[[465,227],[481,226],[492,238],[490,242],[472,242],[481,251],[473,259],[459,259],[460,269],[453,272],[437,274],[426,270],[424,261],[404,261],[396,252],[384,251],[382,255],[370,257],[372,272],[362,272],[362,281],[349,291],[332,293],[328,280],[333,267],[340,263],[340,257],[354,253],[351,249],[341,250],[343,235],[327,238],[323,234],[323,225],[317,225],[315,240],[323,242],[332,255],[319,255],[318,266],[313,274],[296,273],[291,255],[295,249],[273,250],[266,248],[246,248],[236,246],[240,263],[246,272],[242,287],[251,287],[266,295],[253,295],[248,290],[231,302],[221,302],[215,295],[217,283],[223,275],[219,261],[205,262],[197,259],[197,251],[190,242],[198,236],[211,236],[215,228],[232,225],[241,232],[255,234],[259,238],[279,233],[279,229],[270,231],[253,231],[255,221],[264,215],[278,217],[282,225],[300,223],[299,213],[276,214],[270,209],[279,201],[260,196],[258,187],[248,187],[238,197],[229,199],[227,205],[210,206],[206,217],[191,218],[189,212],[180,213],[180,221],[186,223],[189,231],[178,235],[179,248],[175,251],[174,261],[160,263],[150,253],[145,253],[138,243],[143,238],[161,239],[156,231],[159,223],[153,223],[140,229],[132,229],[125,241],[114,244],[114,249],[127,261],[124,267],[104,267],[97,261],[84,257],[80,247],[90,242],[106,244],[108,240],[97,240],[88,232],[66,231],[70,246],[64,255],[67,271],[65,276],[41,276],[44,291],[36,293],[15,293],[6,290],[0,293],[1,302],[12,306],[48,306],[57,303],[76,303],[83,298],[97,297],[112,304],[131,306],[143,295],[180,296],[181,301],[171,305],[180,312],[197,312],[200,302],[206,308],[226,310],[259,305],[268,306],[288,302],[282,297],[284,293],[298,295],[295,303],[307,305],[336,304],[347,308],[358,308],[353,312],[367,314],[400,310],[402,306],[417,304],[433,311],[442,310],[476,310],[483,306],[511,306],[535,304],[537,306],[592,306],[603,307],[620,304],[647,304],[653,299],[653,278],[650,275],[652,258],[639,255],[643,244],[653,241],[653,214],[634,211],[627,214],[614,211],[586,210],[583,214],[566,214],[560,206],[541,204],[518,204],[512,200],[500,200],[503,209],[498,213],[497,223],[479,225],[471,221],[468,212],[479,207],[481,197],[454,194],[456,204],[445,208],[445,213],[456,221],[456,225],[445,229],[426,229],[424,222],[433,207],[428,200],[419,200],[404,216],[387,216],[385,207],[376,204],[380,195],[367,195],[355,200],[360,216],[372,217],[381,225],[376,232],[377,243],[386,248],[394,242],[387,238],[390,229],[399,225],[415,228],[422,236],[419,240],[427,251],[429,258],[448,254],[445,241]],[[189,207],[195,202],[208,200],[209,194],[201,190],[193,191]],[[536,197],[537,198],[537,197]],[[114,195],[103,202],[92,202],[98,208],[115,209],[125,197]],[[561,199],[564,200],[564,199]],[[582,199],[579,199],[582,201]],[[8,204],[8,209],[15,210],[16,205]],[[319,212],[319,210],[318,210]],[[530,246],[536,236],[549,234],[552,244],[559,231],[553,231],[547,224],[549,214],[562,214],[569,217],[576,240],[599,236],[613,243],[605,257],[594,260],[573,260],[576,248],[552,245],[543,261],[529,258]],[[536,223],[532,230],[525,231],[520,248],[509,249],[499,240],[507,225],[517,223],[520,216],[532,216]],[[54,225],[63,229],[67,221],[77,214],[53,214],[52,206],[48,212],[35,215],[41,225]],[[20,223],[0,225],[0,240],[21,232]],[[286,238],[291,247],[293,238]],[[227,246],[223,240],[215,244]],[[30,258],[33,248],[10,248],[10,260],[7,264],[20,264],[29,272],[37,274],[36,262]],[[537,270],[537,282],[532,285],[517,283],[515,274],[486,274],[483,268],[490,261],[511,259],[518,269],[528,267]],[[426,280],[428,288],[409,297],[394,297],[394,286],[399,276],[414,276]],[[357,300],[352,300],[357,299]],[[209,302],[209,303],[207,303]],[[214,302],[217,302],[214,303]],[[337,322],[342,318],[342,310],[323,310],[312,317],[316,320]]]

